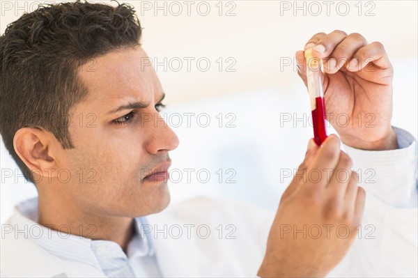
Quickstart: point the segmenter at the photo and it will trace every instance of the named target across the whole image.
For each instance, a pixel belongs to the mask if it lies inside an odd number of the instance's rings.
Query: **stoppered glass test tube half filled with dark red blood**
[[[312,124],[314,126],[314,141],[320,146],[327,138],[325,128],[325,102],[320,78],[320,59],[314,57],[312,49],[304,52],[304,59],[307,65],[307,82],[309,98],[311,99]]]

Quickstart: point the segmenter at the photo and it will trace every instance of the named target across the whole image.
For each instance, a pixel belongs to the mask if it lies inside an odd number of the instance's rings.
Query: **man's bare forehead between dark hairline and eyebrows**
[[[160,81],[142,47],[126,48],[91,59],[78,75],[88,88],[88,101],[148,102],[162,94]]]

